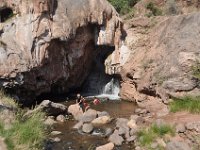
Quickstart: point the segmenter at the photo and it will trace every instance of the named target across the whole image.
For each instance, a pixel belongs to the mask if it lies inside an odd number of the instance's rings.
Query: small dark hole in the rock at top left
[[[11,8],[3,8],[0,10],[0,23],[5,22],[6,20],[13,17],[14,13]]]

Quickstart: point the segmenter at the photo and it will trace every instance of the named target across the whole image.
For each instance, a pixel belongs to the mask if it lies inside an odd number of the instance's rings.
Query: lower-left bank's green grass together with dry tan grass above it
[[[0,136],[5,138],[8,150],[42,149],[46,137],[43,124],[45,114],[38,111],[30,117],[24,117],[25,111],[17,107],[14,100],[2,91],[0,92],[0,101],[6,107],[16,111],[9,128],[4,120],[0,120]]]

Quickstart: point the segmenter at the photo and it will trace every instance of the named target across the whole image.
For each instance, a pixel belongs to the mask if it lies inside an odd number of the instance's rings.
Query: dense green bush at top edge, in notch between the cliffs
[[[108,0],[121,15],[127,14],[139,0]]]

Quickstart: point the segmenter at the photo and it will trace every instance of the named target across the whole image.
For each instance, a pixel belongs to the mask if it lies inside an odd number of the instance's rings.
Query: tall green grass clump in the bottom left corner
[[[1,121],[0,136],[5,138],[9,150],[41,149],[46,137],[43,124],[44,113],[37,112],[27,119],[17,119],[10,129]]]

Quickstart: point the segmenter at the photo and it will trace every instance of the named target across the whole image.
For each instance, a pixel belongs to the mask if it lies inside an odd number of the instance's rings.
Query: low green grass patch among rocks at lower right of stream
[[[146,129],[141,129],[138,133],[138,140],[141,146],[147,147],[151,149],[151,144],[157,139],[162,138],[165,135],[170,134],[172,136],[175,135],[175,129],[167,124],[163,124],[157,126],[155,124],[151,125],[151,127]],[[160,147],[160,146],[159,146]],[[161,148],[162,149],[162,148]]]

